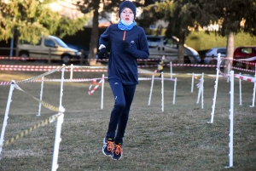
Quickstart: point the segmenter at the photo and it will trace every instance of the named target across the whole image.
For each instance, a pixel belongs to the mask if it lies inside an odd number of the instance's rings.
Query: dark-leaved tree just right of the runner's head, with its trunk
[[[201,18],[201,6],[199,1],[166,0],[162,3],[154,3],[145,8],[141,20],[152,24],[157,20],[168,22],[166,37],[176,36],[178,42],[178,63],[184,63],[183,44],[189,35],[189,27],[198,28],[197,19]],[[148,20],[145,20],[148,18]]]

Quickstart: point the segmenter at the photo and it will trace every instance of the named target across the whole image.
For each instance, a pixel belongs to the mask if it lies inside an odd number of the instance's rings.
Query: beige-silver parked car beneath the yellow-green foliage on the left
[[[26,41],[17,44],[21,57],[49,58],[51,60],[62,60],[64,64],[71,59],[80,58],[81,52],[76,49],[68,48],[60,38],[54,36],[41,37],[37,44],[33,45]]]

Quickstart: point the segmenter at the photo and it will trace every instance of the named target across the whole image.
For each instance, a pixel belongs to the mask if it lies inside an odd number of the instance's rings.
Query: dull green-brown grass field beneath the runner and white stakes
[[[150,69],[148,69],[150,70]],[[169,71],[166,68],[166,71]],[[154,81],[151,105],[148,96],[151,81],[140,81],[131,105],[125,133],[124,156],[113,161],[102,154],[102,139],[108,128],[113,107],[113,95],[108,82],[104,87],[101,110],[101,87],[91,96],[90,82],[64,83],[62,105],[66,109],[61,128],[58,170],[256,170],[256,115],[252,105],[253,83],[241,82],[242,105],[239,105],[239,81],[235,83],[234,106],[234,167],[229,166],[230,83],[220,77],[213,123],[211,119],[215,70],[207,68],[173,68],[177,77],[177,94],[172,105],[173,86],[165,81],[165,111],[161,111],[160,81]],[[202,73],[204,79],[204,108],[196,104],[198,89],[191,93],[191,75]],[[20,81],[43,72],[1,71],[1,81]],[[237,73],[237,72],[236,72]],[[107,73],[104,73],[107,76]],[[69,73],[65,73],[69,78]],[[75,72],[74,78],[102,77],[102,72]],[[140,74],[139,77],[151,77]],[[169,76],[165,76],[169,77]],[[200,78],[201,76],[198,76]],[[45,78],[61,79],[61,72]],[[195,84],[199,80],[195,80]],[[44,83],[43,100],[60,105],[61,83]],[[26,93],[39,98],[40,83],[20,83]],[[0,127],[6,110],[10,86],[0,86]],[[27,128],[55,114],[17,89],[9,108],[4,140],[9,140]],[[49,123],[25,137],[3,147],[0,170],[50,170],[55,141],[55,125]]]

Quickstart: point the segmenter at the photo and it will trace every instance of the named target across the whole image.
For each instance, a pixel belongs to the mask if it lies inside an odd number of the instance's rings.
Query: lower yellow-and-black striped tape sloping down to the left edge
[[[12,137],[11,139],[5,141],[2,145],[0,145],[1,147],[3,146],[8,146],[11,143],[15,142],[16,140],[19,140],[20,138],[24,137],[26,134],[29,134],[30,132],[32,132],[33,130],[35,130],[36,128],[42,127],[44,125],[47,125],[49,123],[53,123],[55,122],[55,120],[60,117],[62,115],[62,113],[58,113],[54,116],[48,117],[47,119],[45,119],[44,121],[41,121],[40,123],[35,124],[34,126],[32,126],[31,128],[27,128],[26,130],[22,131],[20,134],[15,135],[14,137]]]

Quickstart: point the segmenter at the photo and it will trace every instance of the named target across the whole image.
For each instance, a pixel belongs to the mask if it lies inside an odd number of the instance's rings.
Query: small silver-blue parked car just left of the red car
[[[205,54],[203,63],[206,65],[217,65],[218,62],[218,54],[220,54],[220,57],[226,56],[226,48],[211,48],[207,51]],[[225,65],[225,60],[222,59],[221,66]]]

